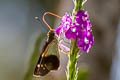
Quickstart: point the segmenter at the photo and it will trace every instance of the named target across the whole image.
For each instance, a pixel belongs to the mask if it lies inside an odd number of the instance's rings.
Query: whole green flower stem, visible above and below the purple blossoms
[[[84,0],[74,0],[73,16],[82,9]],[[73,18],[74,21],[75,17]],[[79,49],[76,46],[76,40],[71,39],[70,54],[68,55],[67,80],[77,80],[77,53]]]

